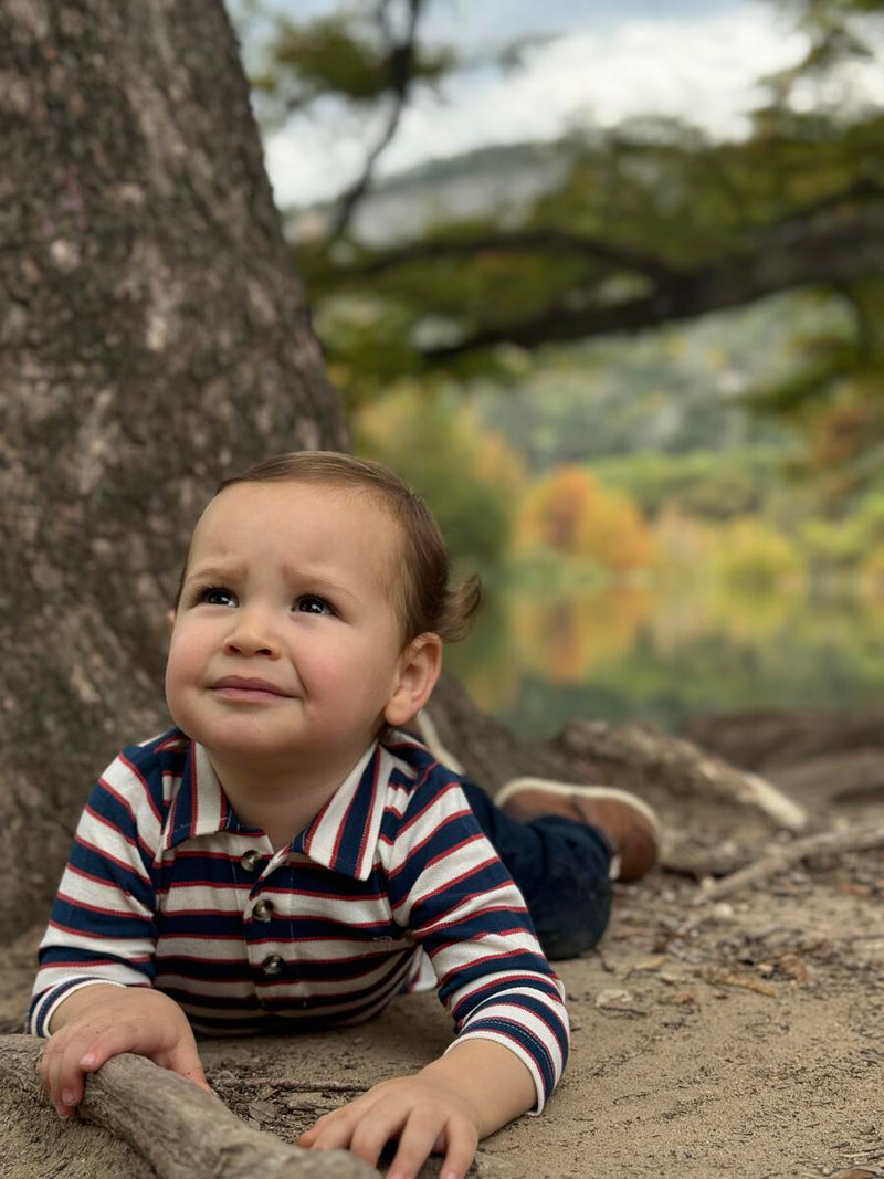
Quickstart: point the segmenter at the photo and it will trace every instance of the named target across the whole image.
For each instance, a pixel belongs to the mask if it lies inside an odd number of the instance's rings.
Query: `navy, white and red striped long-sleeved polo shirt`
[[[460,779],[401,732],[276,852],[180,730],[125,749],[80,818],[28,1029],[95,982],[154,986],[209,1035],[357,1023],[437,984],[457,1040],[525,1062],[537,1109],[568,1050],[521,894]]]

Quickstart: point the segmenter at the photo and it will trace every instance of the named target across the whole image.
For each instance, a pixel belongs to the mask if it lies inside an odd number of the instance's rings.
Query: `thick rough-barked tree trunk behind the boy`
[[[220,0],[0,6],[0,933],[159,731],[165,614],[217,480],[343,448]]]

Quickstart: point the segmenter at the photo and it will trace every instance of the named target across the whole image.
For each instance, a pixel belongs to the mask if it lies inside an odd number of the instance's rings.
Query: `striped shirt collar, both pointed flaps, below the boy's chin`
[[[293,851],[332,871],[368,880],[375,862],[392,755],[375,742],[342,782],[310,825],[292,843]],[[233,812],[198,742],[187,750],[180,784],[163,825],[161,850],[185,839],[222,831],[248,831]]]

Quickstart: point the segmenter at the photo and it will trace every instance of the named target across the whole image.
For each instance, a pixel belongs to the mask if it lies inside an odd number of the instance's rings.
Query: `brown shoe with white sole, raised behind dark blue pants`
[[[514,778],[494,801],[521,823],[559,815],[596,828],[614,852],[612,880],[638,880],[654,867],[660,855],[660,819],[647,803],[626,790],[576,786],[548,778]]]

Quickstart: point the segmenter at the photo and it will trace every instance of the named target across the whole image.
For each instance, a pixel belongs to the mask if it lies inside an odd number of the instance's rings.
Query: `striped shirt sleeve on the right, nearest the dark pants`
[[[521,893],[448,771],[413,791],[397,828],[385,857],[392,913],[433,964],[455,1042],[494,1040],[515,1053],[540,1112],[565,1067],[568,1019]]]

